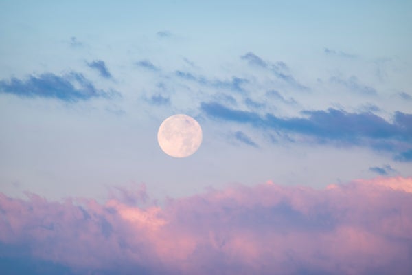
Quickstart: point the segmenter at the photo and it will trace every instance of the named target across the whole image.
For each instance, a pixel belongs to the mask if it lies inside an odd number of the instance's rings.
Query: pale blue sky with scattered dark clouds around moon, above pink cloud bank
[[[1,1],[0,191],[102,199],[145,183],[163,198],[411,175],[411,1],[284,2]],[[360,130],[309,133],[302,111]],[[155,140],[174,113],[203,126],[187,159]]]

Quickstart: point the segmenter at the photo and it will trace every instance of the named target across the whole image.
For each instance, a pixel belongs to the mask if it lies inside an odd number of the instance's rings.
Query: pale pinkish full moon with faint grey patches
[[[172,115],[161,123],[157,142],[171,157],[188,157],[201,146],[201,125],[189,115]]]

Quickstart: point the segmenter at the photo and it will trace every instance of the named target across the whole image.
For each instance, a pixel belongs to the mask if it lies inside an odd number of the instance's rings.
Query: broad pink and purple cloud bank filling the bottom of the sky
[[[10,274],[22,268],[13,263],[70,271],[63,274],[412,270],[412,178],[324,190],[268,181],[169,199],[163,208],[0,194],[0,210],[0,259]]]

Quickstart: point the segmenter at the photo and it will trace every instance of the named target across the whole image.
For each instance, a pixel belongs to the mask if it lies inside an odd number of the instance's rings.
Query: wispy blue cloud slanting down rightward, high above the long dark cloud
[[[308,89],[308,87],[301,85],[293,76],[289,74],[288,66],[282,61],[277,61],[277,63],[269,63],[256,54],[253,54],[253,52],[248,52],[247,54],[240,56],[240,58],[247,61],[249,65],[270,70],[275,76],[277,76],[277,78],[284,80],[286,83],[297,89]]]

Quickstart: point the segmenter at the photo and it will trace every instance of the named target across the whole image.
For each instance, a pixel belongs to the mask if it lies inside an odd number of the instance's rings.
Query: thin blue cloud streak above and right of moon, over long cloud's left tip
[[[177,70],[175,72],[176,76],[179,76],[180,78],[183,78],[185,80],[190,80],[194,81],[198,84],[201,85],[206,85],[209,87],[215,87],[219,89],[230,89],[232,91],[244,91],[242,85],[249,83],[249,80],[245,78],[238,78],[236,76],[233,76],[231,80],[211,80],[205,78],[205,76],[195,76],[194,74],[191,74],[190,72],[182,72]]]

